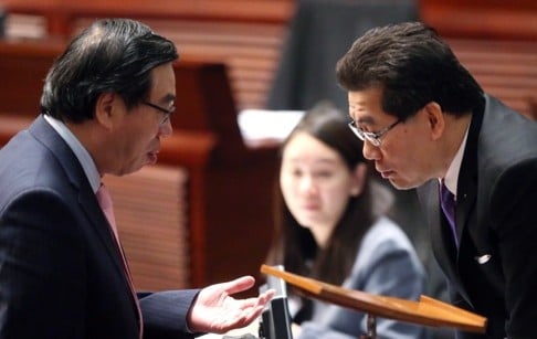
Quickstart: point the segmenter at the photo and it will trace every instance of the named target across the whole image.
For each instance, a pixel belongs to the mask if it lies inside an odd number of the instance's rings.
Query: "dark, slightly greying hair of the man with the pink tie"
[[[130,109],[149,96],[151,70],[178,57],[171,41],[138,21],[97,20],[52,65],[41,113],[63,121],[93,119],[103,93],[117,93]]]

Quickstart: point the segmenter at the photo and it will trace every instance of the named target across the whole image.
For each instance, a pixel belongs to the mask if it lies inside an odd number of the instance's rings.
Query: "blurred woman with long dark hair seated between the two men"
[[[331,105],[307,112],[282,147],[278,204],[267,262],[369,294],[417,300],[424,273],[409,239],[383,214],[392,198],[375,183],[360,141]],[[362,312],[289,290],[293,336],[358,338]],[[377,319],[378,338],[422,338],[423,329]]]

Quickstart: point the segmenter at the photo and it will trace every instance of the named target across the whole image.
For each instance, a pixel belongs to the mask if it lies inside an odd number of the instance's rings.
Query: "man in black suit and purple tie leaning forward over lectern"
[[[366,158],[419,187],[452,303],[487,318],[485,335],[459,337],[536,338],[537,124],[484,94],[422,23],[368,31],[336,73]]]

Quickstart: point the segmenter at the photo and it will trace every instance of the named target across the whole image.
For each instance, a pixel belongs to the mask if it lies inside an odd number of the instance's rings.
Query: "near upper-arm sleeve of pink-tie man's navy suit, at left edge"
[[[0,337],[83,338],[83,243],[55,192],[23,192],[0,213]]]

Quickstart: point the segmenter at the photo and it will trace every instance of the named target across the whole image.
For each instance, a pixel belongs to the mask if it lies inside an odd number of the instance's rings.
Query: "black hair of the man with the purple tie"
[[[430,102],[464,115],[482,109],[483,89],[438,33],[421,22],[375,28],[337,62],[346,91],[379,87],[382,109],[404,120]]]

